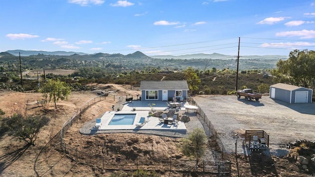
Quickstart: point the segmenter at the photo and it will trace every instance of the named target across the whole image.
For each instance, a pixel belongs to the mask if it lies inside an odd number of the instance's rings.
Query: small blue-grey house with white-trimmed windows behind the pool
[[[187,81],[141,81],[141,101],[168,101],[174,94],[176,99],[187,99],[189,90]]]

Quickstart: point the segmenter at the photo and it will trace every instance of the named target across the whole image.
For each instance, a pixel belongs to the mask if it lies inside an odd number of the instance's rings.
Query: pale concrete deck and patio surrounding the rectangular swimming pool
[[[152,107],[149,106],[152,105]],[[186,110],[185,106],[188,106],[187,101],[182,102],[181,108],[167,108],[166,101],[129,101],[125,103],[119,103],[115,105],[115,109],[120,108],[121,111],[107,111],[101,116],[101,126],[95,127],[95,119],[85,124],[81,129],[80,133],[85,135],[92,135],[97,133],[143,133],[143,134],[156,134],[169,137],[186,137],[192,128],[202,126],[195,117],[196,109],[192,109],[193,113]],[[135,108],[135,111],[133,111]],[[190,121],[184,123],[179,121],[178,123],[164,124],[159,121],[157,117],[149,116],[152,108],[156,112],[168,113],[174,111],[175,114],[181,116],[189,116]],[[132,125],[108,125],[111,118],[115,113],[118,114],[132,114],[136,113],[135,120]],[[136,126],[140,118],[146,118],[147,122],[142,126]]]

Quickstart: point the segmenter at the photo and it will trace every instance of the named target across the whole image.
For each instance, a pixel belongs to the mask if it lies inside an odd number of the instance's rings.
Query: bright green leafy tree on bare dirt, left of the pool
[[[57,109],[56,102],[61,100],[67,100],[71,93],[70,87],[65,83],[58,80],[48,80],[43,88],[39,90],[43,93],[43,97],[48,101],[53,101],[55,108]]]

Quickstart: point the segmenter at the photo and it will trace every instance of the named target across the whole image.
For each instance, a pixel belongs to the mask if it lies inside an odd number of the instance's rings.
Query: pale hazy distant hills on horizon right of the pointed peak
[[[150,56],[155,59],[237,59],[237,56],[213,54],[190,54],[181,56]],[[265,55],[265,56],[240,56],[240,59],[287,59],[287,56]]]

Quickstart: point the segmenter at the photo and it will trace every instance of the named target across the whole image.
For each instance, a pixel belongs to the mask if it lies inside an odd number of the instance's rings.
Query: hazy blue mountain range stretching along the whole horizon
[[[180,56],[147,56],[142,52],[134,52],[132,54],[122,55],[122,54],[104,54],[104,53],[95,53],[95,54],[86,54],[82,52],[65,52],[65,51],[55,51],[55,52],[47,52],[47,51],[25,51],[25,50],[8,50],[6,53],[9,53],[14,56],[27,57],[32,55],[51,55],[51,56],[89,56],[89,57],[126,57],[126,58],[147,58],[147,59],[237,59],[237,56],[223,55],[218,53],[213,54],[189,54],[189,55],[180,55]],[[0,55],[4,55],[4,52],[0,53]],[[264,55],[264,56],[240,56],[240,59],[287,59],[287,56],[281,55]]]

